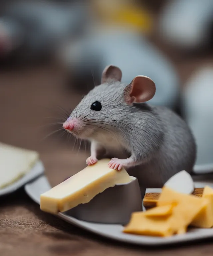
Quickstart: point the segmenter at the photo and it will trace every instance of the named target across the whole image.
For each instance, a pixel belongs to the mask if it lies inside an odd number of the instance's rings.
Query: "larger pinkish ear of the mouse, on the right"
[[[124,89],[127,104],[142,103],[155,95],[155,83],[147,76],[136,76]]]

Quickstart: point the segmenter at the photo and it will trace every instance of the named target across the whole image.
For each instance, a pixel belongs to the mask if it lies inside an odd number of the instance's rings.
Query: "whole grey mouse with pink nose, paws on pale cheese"
[[[110,158],[108,165],[123,166],[141,187],[158,188],[175,173],[192,173],[196,144],[187,124],[166,107],[147,104],[154,82],[136,76],[121,83],[118,67],[107,66],[102,84],[92,89],[73,110],[63,127],[91,142],[88,165]]]

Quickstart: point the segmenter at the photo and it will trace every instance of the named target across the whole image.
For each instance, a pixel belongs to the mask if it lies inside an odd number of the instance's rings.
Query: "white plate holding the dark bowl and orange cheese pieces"
[[[195,180],[197,179],[198,177],[195,177]],[[213,175],[210,176],[210,179],[213,180]],[[204,179],[199,180],[198,182],[195,181],[195,187],[204,187],[205,185],[213,187],[213,182],[209,181],[209,177],[206,176],[206,180],[207,181],[205,181]],[[40,194],[46,192],[50,188],[51,186],[45,176],[41,176],[36,180],[25,185],[26,193],[38,204],[40,204]],[[108,224],[98,224],[98,223],[81,221],[65,213],[59,213],[56,216],[75,226],[78,226],[82,229],[93,232],[100,236],[107,237],[120,242],[137,244],[137,245],[159,246],[159,245],[166,245],[166,244],[185,243],[189,241],[195,241],[195,240],[201,240],[204,238],[213,237],[213,228],[210,228],[210,229],[191,228],[186,234],[163,238],[163,237],[150,237],[150,236],[125,234],[125,233],[122,233],[122,230],[123,230],[122,225],[108,225]]]

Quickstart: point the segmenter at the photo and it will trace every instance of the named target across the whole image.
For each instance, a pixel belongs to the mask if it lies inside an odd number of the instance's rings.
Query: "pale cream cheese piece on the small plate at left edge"
[[[36,151],[0,142],[0,188],[4,188],[31,170],[39,159]]]

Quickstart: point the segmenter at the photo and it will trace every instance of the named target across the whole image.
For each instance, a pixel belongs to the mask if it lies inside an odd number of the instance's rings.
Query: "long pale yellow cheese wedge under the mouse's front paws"
[[[102,159],[87,166],[69,179],[41,194],[41,210],[53,214],[64,212],[79,204],[90,202],[97,194],[116,184],[131,180],[124,168],[110,169],[110,159]]]

